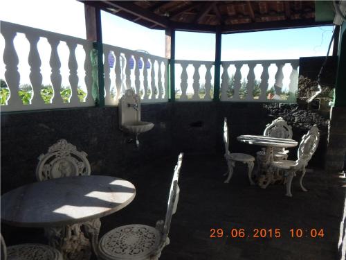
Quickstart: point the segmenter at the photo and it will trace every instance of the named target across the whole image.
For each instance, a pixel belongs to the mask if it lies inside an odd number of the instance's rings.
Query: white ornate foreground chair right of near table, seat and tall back
[[[136,259],[156,260],[161,256],[165,245],[170,243],[168,233],[172,215],[176,212],[179,200],[179,171],[183,153],[179,155],[178,164],[170,187],[165,222],[158,220],[156,227],[147,225],[124,225],[107,232],[98,244],[98,257],[102,260]]]

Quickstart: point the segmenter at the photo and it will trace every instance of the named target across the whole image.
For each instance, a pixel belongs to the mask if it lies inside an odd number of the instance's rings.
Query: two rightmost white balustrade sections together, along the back
[[[295,103],[299,60],[221,62],[220,100]],[[215,62],[176,60],[176,101],[210,101]]]

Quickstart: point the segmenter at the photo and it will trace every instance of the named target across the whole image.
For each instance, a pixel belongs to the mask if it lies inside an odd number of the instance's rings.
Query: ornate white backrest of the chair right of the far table
[[[320,132],[318,132],[317,125],[313,125],[307,134],[303,135],[302,141],[300,141],[298,148],[298,164],[307,165],[313,153],[315,153],[319,141]]]

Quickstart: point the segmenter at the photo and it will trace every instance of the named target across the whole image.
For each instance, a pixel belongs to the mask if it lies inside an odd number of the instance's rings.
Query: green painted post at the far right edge
[[[346,22],[343,22],[340,31],[338,73],[336,75],[336,87],[334,107],[346,107]]]

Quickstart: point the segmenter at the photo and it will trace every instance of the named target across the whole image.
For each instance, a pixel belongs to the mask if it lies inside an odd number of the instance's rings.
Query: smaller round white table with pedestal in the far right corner
[[[282,176],[279,175],[279,173],[277,173],[277,176],[274,177],[275,173],[273,173],[273,171],[271,171],[270,169],[271,162],[273,162],[273,159],[274,159],[273,148],[274,147],[289,148],[289,147],[298,146],[298,141],[295,141],[293,139],[266,137],[264,135],[240,135],[239,137],[237,137],[237,140],[245,144],[253,144],[256,146],[265,147],[266,150],[264,153],[264,162],[262,162],[260,168],[262,168],[262,170],[266,174],[259,177],[259,182],[258,182],[260,187],[264,189],[268,187],[268,184],[271,184],[272,182],[275,182],[276,180],[282,180]],[[257,161],[257,164],[259,164],[258,161]]]

